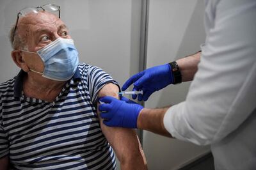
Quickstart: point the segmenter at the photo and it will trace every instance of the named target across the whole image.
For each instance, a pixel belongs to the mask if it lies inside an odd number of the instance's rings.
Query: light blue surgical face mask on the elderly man
[[[27,50],[22,50],[30,52]],[[67,81],[76,72],[79,63],[78,52],[72,39],[58,38],[42,49],[31,52],[38,54],[44,62],[43,77],[54,81]]]

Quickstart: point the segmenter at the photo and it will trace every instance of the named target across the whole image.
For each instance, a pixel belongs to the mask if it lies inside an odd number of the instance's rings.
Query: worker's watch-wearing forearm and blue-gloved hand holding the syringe
[[[197,71],[197,65],[200,61],[200,54],[201,52],[196,52],[196,54],[176,61],[180,69],[182,81],[193,80]],[[143,95],[138,95],[138,100],[146,101],[155,91],[175,83],[175,77],[172,70],[173,68],[169,63],[148,68],[143,72],[132,75],[132,77],[124,83],[122,90],[124,91],[133,84],[134,90],[143,91]],[[132,95],[133,99],[136,97],[137,95]]]

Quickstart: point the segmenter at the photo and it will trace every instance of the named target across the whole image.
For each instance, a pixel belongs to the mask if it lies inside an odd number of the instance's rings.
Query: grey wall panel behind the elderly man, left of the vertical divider
[[[139,70],[141,1],[138,0],[6,0],[0,1],[0,82],[19,68],[11,58],[8,33],[24,7],[61,6],[81,62],[101,67],[120,83]],[[119,167],[118,167],[119,168]]]

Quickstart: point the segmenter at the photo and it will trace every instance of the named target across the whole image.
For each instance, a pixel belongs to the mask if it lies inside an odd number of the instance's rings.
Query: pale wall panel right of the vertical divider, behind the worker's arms
[[[204,43],[204,1],[150,0],[148,14],[147,68],[162,65],[200,50]],[[177,104],[186,98],[189,82],[154,93],[145,107]],[[149,169],[177,169],[209,151],[190,143],[143,132],[143,148]]]

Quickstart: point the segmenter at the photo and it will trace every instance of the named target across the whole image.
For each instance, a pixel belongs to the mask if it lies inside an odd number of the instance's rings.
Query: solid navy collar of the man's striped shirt
[[[23,89],[23,77],[26,74],[23,70],[20,70],[18,73],[15,82],[14,82],[14,97],[22,97],[22,89]],[[81,81],[81,74],[79,68],[77,66],[76,72],[72,77],[73,81]]]

